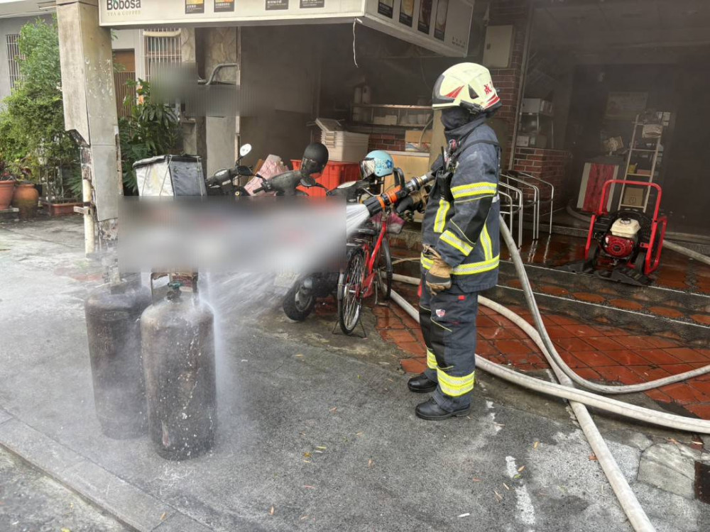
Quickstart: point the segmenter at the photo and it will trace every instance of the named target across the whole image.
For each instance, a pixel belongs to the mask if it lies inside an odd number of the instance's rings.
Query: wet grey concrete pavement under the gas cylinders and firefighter
[[[245,279],[209,292],[220,338],[214,450],[167,462],[147,437],[102,436],[83,314],[99,277],[82,250],[76,218],[0,226],[0,445],[126,526],[630,530],[562,401],[482,374],[470,416],[420,421],[423,398],[406,390],[396,345],[332,335],[325,316],[290,323]],[[710,529],[691,478],[705,456],[683,445],[691,436],[595,419],[657,530]],[[19,519],[34,526],[30,507]]]

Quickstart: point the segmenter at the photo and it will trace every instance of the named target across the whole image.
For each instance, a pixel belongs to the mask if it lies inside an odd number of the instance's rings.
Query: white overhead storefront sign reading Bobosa
[[[99,23],[109,28],[350,23],[442,55],[463,57],[469,46],[472,0],[102,0]],[[432,20],[433,19],[433,20]]]

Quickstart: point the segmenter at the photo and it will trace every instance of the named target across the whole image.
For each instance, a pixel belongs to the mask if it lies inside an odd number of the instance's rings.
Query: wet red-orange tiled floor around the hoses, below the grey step
[[[397,284],[408,301],[416,302],[415,287]],[[372,309],[383,338],[396,343],[406,372],[419,373],[426,367],[426,348],[419,326],[394,303]],[[532,323],[527,309],[511,307]],[[586,379],[635,384],[693,370],[710,364],[709,348],[687,348],[670,338],[637,336],[621,328],[590,326],[557,314],[543,316],[547,331],[560,356]],[[480,307],[476,353],[520,371],[550,367],[523,331],[503,316]],[[662,404],[675,403],[692,414],[710,419],[710,374],[645,392]]]

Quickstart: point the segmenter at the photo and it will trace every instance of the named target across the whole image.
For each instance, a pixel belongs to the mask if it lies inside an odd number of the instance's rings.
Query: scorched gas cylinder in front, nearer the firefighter
[[[196,293],[168,284],[168,296],[141,316],[148,430],[168,460],[212,448],[217,425],[214,314]]]

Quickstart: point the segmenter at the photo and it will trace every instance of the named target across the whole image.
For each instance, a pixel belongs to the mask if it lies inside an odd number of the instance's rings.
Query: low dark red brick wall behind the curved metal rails
[[[555,204],[564,206],[569,196],[575,193],[569,187],[567,167],[572,154],[564,150],[540,150],[540,148],[515,148],[513,170],[526,172],[555,185]],[[542,193],[542,190],[540,191]]]

